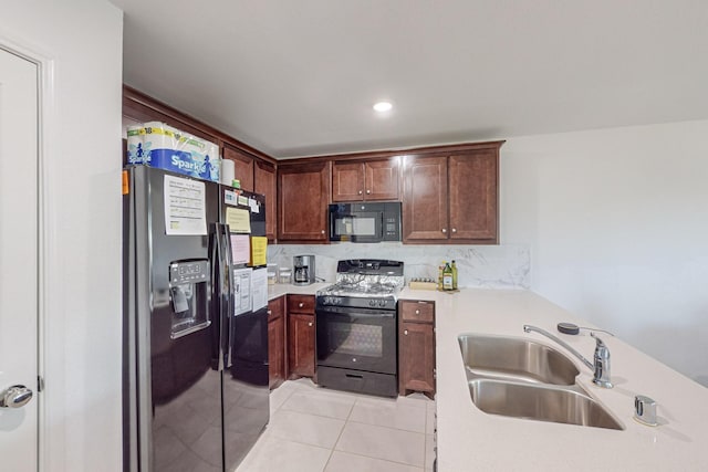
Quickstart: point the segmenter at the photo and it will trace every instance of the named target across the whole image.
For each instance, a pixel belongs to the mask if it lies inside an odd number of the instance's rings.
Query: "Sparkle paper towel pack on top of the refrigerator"
[[[219,148],[162,122],[127,129],[128,164],[145,164],[199,179],[219,181]]]

